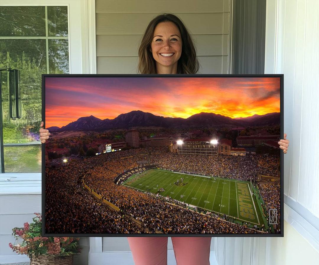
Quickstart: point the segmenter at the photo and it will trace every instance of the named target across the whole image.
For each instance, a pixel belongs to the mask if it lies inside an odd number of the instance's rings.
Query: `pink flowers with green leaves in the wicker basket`
[[[38,255],[55,255],[59,257],[80,254],[79,238],[73,237],[42,237],[42,216],[34,213],[33,223],[24,223],[24,227],[12,229],[12,235],[18,239],[23,239],[22,243],[9,247],[18,254],[26,254],[29,258]]]

